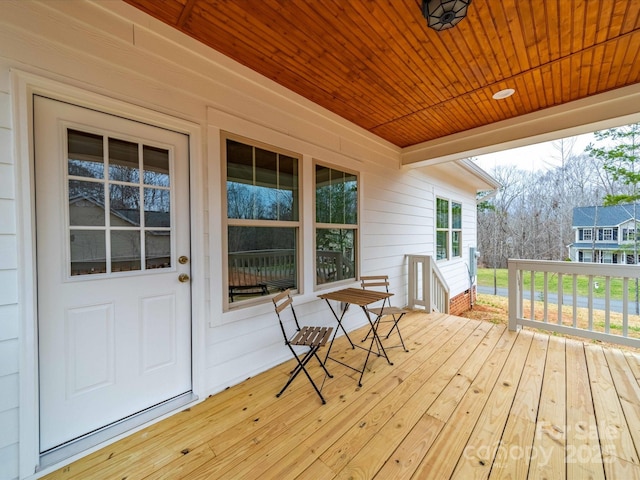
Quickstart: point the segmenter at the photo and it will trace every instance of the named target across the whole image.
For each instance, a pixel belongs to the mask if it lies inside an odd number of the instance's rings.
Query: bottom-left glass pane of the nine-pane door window
[[[104,230],[71,230],[71,275],[107,271]]]

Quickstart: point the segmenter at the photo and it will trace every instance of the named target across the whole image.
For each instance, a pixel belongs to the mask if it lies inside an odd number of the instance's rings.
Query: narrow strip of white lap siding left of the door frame
[[[6,75],[0,79],[7,79]],[[0,478],[18,477],[18,278],[8,82],[0,84]]]

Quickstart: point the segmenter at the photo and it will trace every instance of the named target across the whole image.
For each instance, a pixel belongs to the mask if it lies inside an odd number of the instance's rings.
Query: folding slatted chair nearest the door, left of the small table
[[[300,327],[300,324],[298,323],[298,317],[296,316],[296,312],[293,309],[293,300],[291,299],[289,292],[290,290],[287,289],[284,292],[281,292],[276,296],[274,296],[272,300],[273,300],[273,305],[276,309],[276,315],[278,315],[278,321],[280,322],[282,335],[284,336],[284,343],[285,345],[287,345],[287,347],[289,347],[289,350],[291,350],[291,353],[293,354],[294,358],[297,360],[298,365],[291,371],[289,380],[287,381],[285,386],[282,387],[282,390],[280,390],[280,392],[276,395],[276,397],[279,397],[280,395],[282,395],[282,393],[287,389],[289,385],[291,385],[291,382],[293,382],[293,379],[296,378],[300,372],[304,372],[304,374],[307,376],[307,378],[311,382],[311,385],[313,385],[313,388],[315,389],[317,394],[320,396],[320,400],[322,400],[322,403],[324,404],[327,402],[322,396],[322,393],[320,393],[320,389],[317,387],[317,385],[311,378],[311,375],[309,375],[309,372],[307,371],[306,366],[309,360],[311,360],[312,357],[315,357],[316,360],[318,360],[318,363],[320,364],[322,369],[324,370],[324,373],[326,373],[327,377],[333,378],[333,375],[329,373],[329,371],[327,370],[327,367],[325,367],[324,363],[322,362],[322,360],[320,360],[320,357],[318,356],[318,350],[320,349],[320,347],[324,346],[327,343],[327,340],[329,339],[329,337],[331,336],[331,332],[333,331],[333,327],[308,327],[308,326]],[[291,314],[293,316],[293,320],[296,325],[296,333],[291,338],[289,338],[289,336],[287,335],[287,331],[284,327],[284,322],[282,321],[282,316],[281,316],[282,312],[286,308],[289,308],[291,310]],[[296,353],[296,350],[294,349],[294,347],[307,347],[308,350],[304,353],[298,354]],[[298,348],[298,350],[301,350],[301,348]],[[322,388],[322,386],[320,388]]]

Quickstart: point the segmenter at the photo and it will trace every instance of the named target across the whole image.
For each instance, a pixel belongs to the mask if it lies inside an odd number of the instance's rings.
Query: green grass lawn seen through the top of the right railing
[[[605,296],[605,278],[604,277],[594,277],[594,283],[598,283],[598,287],[594,288],[594,294],[596,297]],[[506,268],[499,268],[495,270],[495,282],[498,287],[507,288],[509,286],[508,274]],[[551,292],[558,291],[558,275],[556,273],[549,273],[547,275],[548,289]],[[544,273],[537,272],[534,276],[534,284],[536,291],[542,291],[544,288]],[[478,285],[482,285],[485,287],[493,287],[494,286],[494,270],[492,268],[479,268],[478,269]],[[530,288],[531,285],[531,275],[525,274],[524,276],[524,286],[525,288]],[[563,293],[565,295],[571,295],[573,293],[573,276],[565,275],[562,279],[562,288]],[[622,300],[622,279],[612,278],[611,279],[611,298]],[[629,281],[628,285],[629,290],[629,300],[635,299],[636,295],[636,282]],[[578,296],[587,296],[589,293],[589,277],[587,276],[578,276],[577,277],[577,294]]]

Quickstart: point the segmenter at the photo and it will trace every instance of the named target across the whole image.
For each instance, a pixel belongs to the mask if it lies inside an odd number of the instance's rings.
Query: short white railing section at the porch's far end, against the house
[[[407,255],[409,262],[409,308],[449,313],[449,285],[429,255]]]

